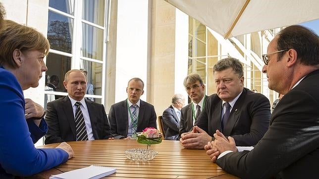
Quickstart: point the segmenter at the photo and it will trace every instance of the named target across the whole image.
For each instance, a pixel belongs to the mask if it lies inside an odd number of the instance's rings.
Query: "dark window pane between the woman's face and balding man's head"
[[[46,75],[50,77],[55,75],[58,78],[58,83],[53,84],[56,87],[56,91],[66,92],[63,80],[65,73],[71,69],[71,57],[49,53],[46,65],[48,67]]]

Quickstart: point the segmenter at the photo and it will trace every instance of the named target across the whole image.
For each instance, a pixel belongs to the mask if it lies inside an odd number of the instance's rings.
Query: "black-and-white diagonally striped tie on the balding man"
[[[88,140],[88,134],[85,128],[85,122],[83,118],[82,111],[80,109],[81,103],[76,102],[76,111],[75,111],[75,129],[76,129],[76,140]]]

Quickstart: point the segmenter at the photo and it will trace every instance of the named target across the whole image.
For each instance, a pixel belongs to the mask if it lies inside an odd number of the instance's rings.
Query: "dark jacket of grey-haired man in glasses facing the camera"
[[[206,96],[206,98],[208,98],[207,95],[205,95],[205,96]],[[207,102],[207,99],[205,102]],[[193,103],[191,102],[191,103],[187,104],[185,107],[183,107],[181,110],[182,112],[180,115],[180,122],[179,122],[179,137],[181,134],[190,132],[193,129],[193,108],[192,108],[192,105],[193,105]],[[202,111],[203,111],[203,109],[202,109]]]

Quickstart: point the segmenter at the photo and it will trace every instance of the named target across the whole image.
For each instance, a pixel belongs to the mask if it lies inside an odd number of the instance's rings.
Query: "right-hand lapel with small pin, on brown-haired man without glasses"
[[[247,94],[247,90],[244,88],[243,92],[241,93],[241,95],[239,96],[237,101],[235,102],[234,107],[231,109],[231,112],[229,114],[229,117],[228,117],[228,120],[226,123],[226,128],[224,130],[225,135],[231,134],[231,131],[233,130],[236,122],[238,121],[240,111],[241,111],[241,106],[242,106],[242,104],[245,103],[244,99],[245,99],[246,94]]]

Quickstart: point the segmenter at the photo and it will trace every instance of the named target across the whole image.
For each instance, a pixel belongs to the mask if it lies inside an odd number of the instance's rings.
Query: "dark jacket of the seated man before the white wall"
[[[126,100],[113,104],[109,109],[108,119],[111,126],[111,134],[116,139],[127,137],[128,111]],[[155,109],[152,104],[141,100],[137,132],[142,132],[148,127],[157,129]]]

